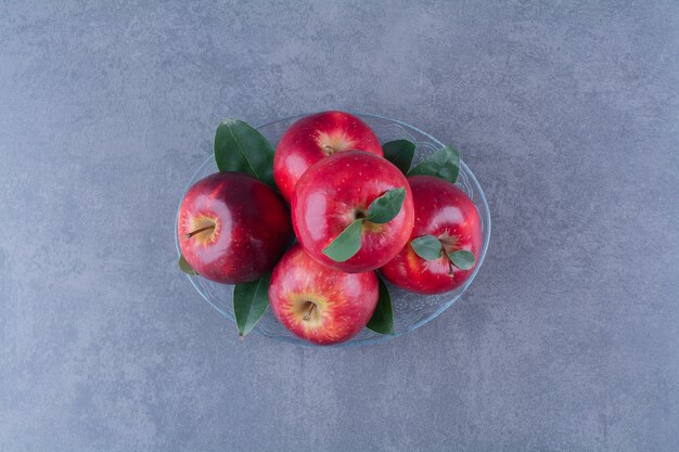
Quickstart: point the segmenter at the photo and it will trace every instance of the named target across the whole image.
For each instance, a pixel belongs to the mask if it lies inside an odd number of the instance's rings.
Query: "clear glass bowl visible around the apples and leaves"
[[[380,140],[383,143],[398,139],[406,139],[415,143],[418,147],[415,151],[413,165],[444,145],[434,137],[405,122],[383,118],[376,115],[357,113],[355,113],[355,115],[364,120],[372,128],[372,130],[374,130],[377,137],[380,137]],[[304,116],[306,115],[291,116],[285,119],[279,119],[277,121],[257,127],[257,130],[259,130],[259,132],[261,132],[276,146],[283,132],[285,132],[285,130],[295,120]],[[197,171],[195,171],[195,173],[187,184],[184,193],[195,182],[217,171],[218,169],[217,165],[215,164],[215,158],[210,154],[205,159],[203,165],[201,165]],[[389,292],[392,293],[395,323],[394,327],[396,333],[394,335],[381,335],[368,328],[363,328],[353,339],[343,344],[337,344],[333,347],[351,347],[377,344],[400,336],[403,333],[419,328],[420,326],[431,322],[433,319],[440,315],[440,313],[444,312],[446,309],[450,308],[452,304],[456,302],[458,298],[460,298],[460,296],[462,296],[462,294],[464,293],[464,290],[466,290],[470,284],[472,284],[472,281],[474,281],[476,273],[478,273],[478,270],[484,262],[484,258],[486,257],[486,250],[488,249],[488,242],[490,240],[490,211],[488,209],[488,203],[486,202],[486,196],[484,195],[481,184],[474,177],[474,173],[463,162],[461,163],[460,175],[458,177],[457,185],[460,189],[464,190],[464,192],[472,198],[481,216],[483,247],[481,250],[481,257],[472,276],[466,280],[464,285],[458,287],[452,292],[428,296],[412,294],[395,287],[394,285],[386,282],[389,287]],[[175,241],[177,244],[177,253],[179,257],[180,251],[179,243],[177,242],[177,234],[175,234]],[[201,296],[208,304],[210,304],[213,308],[215,308],[223,317],[234,323],[233,335],[235,336],[238,333],[235,330],[235,319],[233,317],[233,286],[215,283],[201,276],[188,277],[191,281],[191,284],[193,284],[195,289],[198,292],[198,294],[201,294]],[[254,332],[270,337],[274,340],[282,340],[285,343],[315,347],[312,344],[298,338],[297,336],[285,330],[285,327],[283,327],[283,325],[281,325],[276,319],[271,309],[267,309],[264,317],[255,327]]]

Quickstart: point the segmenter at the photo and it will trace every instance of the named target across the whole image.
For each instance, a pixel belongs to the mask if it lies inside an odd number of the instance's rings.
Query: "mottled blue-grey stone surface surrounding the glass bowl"
[[[1,451],[679,450],[676,1],[128,3],[0,5]],[[182,188],[331,107],[457,144],[487,260],[385,345],[240,343]]]

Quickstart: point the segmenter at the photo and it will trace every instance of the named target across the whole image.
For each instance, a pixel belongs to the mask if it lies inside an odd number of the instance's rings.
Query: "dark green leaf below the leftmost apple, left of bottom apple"
[[[252,283],[236,284],[233,288],[233,314],[241,337],[253,331],[269,307],[269,281],[271,275]]]

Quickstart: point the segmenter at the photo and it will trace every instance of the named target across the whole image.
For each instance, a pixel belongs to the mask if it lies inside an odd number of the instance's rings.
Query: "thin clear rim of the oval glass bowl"
[[[300,113],[300,114],[296,114],[296,115],[290,115],[290,116],[285,116],[283,118],[279,118],[272,121],[268,121],[258,126],[255,126],[255,129],[259,130],[262,129],[265,127],[278,124],[278,122],[285,122],[285,121],[293,121],[296,119],[300,119],[305,116],[308,115],[312,115],[315,113],[319,113],[319,112],[311,112],[311,113]],[[389,121],[389,122],[395,122],[398,124],[400,126],[403,126],[408,129],[412,129],[414,131],[417,131],[418,133],[421,133],[422,135],[426,137],[428,140],[431,140],[434,144],[436,144],[437,146],[444,146],[445,144],[434,138],[432,134],[421,130],[420,128],[412,126],[408,122],[403,122],[401,120],[398,119],[392,119],[392,118],[387,118],[385,116],[382,115],[376,115],[376,114],[371,114],[371,113],[358,113],[358,112],[351,112],[348,111],[347,113],[358,116],[359,118],[373,118],[373,119],[379,119],[379,120],[385,120],[385,121]],[[183,195],[189,191],[189,189],[192,185],[192,181],[196,178],[196,176],[202,171],[203,167],[205,165],[210,164],[213,160],[213,155],[210,154],[209,157],[207,157],[198,167],[197,169],[193,172],[193,175],[191,176],[191,179],[189,180],[189,182],[187,182],[187,184],[184,185],[183,192],[182,192],[182,198]],[[474,172],[470,169],[470,167],[463,162],[462,158],[460,158],[460,166],[464,169],[465,175],[471,179],[471,183],[472,185],[478,188],[478,195],[481,197],[481,205],[484,207],[483,211],[481,211],[481,209],[478,209],[477,206],[477,210],[478,215],[482,216],[483,220],[484,220],[484,225],[487,227],[488,233],[487,234],[483,234],[484,235],[484,240],[482,243],[482,249],[481,249],[481,256],[478,258],[478,263],[476,264],[476,267],[474,268],[474,272],[471,274],[471,276],[464,282],[464,284],[460,287],[459,293],[453,296],[452,298],[450,298],[449,300],[447,300],[446,302],[443,302],[438,309],[436,309],[434,312],[432,312],[430,315],[425,317],[424,319],[413,323],[412,325],[409,325],[406,330],[402,330],[400,332],[397,332],[395,334],[384,334],[384,335],[379,335],[375,336],[373,338],[369,338],[366,340],[359,340],[359,341],[355,341],[354,339],[349,339],[345,343],[341,343],[341,344],[335,344],[335,345],[331,345],[331,346],[323,346],[323,348],[329,348],[329,347],[336,347],[336,348],[345,348],[345,347],[361,347],[361,346],[369,346],[369,345],[377,345],[377,344],[383,344],[386,343],[387,340],[394,339],[396,337],[400,337],[402,335],[405,335],[406,333],[410,333],[414,330],[420,328],[421,326],[430,323],[431,321],[433,321],[434,319],[436,319],[437,317],[439,317],[441,313],[444,313],[444,311],[448,310],[457,300],[460,299],[460,297],[462,297],[462,295],[466,292],[466,289],[469,288],[469,286],[472,284],[472,282],[474,281],[474,279],[476,277],[476,274],[478,273],[478,271],[481,270],[484,260],[486,258],[486,254],[488,253],[488,247],[490,245],[490,234],[491,234],[491,218],[490,218],[490,207],[488,206],[488,199],[486,198],[486,194],[484,193],[483,186],[481,185],[481,183],[478,182],[478,179],[476,179],[476,175],[474,175]],[[178,254],[178,258],[181,257],[181,249],[179,247],[179,237],[177,235],[177,224],[179,221],[179,208],[181,207],[181,201],[179,202],[179,206],[177,207],[177,214],[176,214],[176,218],[175,218],[175,246],[177,248],[177,254]],[[219,312],[220,314],[222,314],[223,317],[226,317],[227,319],[229,319],[231,322],[233,322],[235,324],[235,318],[233,317],[233,314],[231,314],[229,311],[223,310],[220,306],[214,304],[204,293],[203,290],[201,290],[201,288],[197,286],[197,283],[195,281],[194,277],[192,277],[191,275],[187,274],[185,275],[189,281],[191,282],[191,285],[193,285],[193,288],[201,295],[201,297],[207,301],[215,310],[217,310],[217,312]],[[200,275],[198,275],[200,277]],[[440,295],[445,295],[445,294],[440,294]],[[305,341],[304,339],[298,339],[298,338],[287,338],[287,337],[269,337],[265,334],[262,334],[260,331],[258,331],[257,328],[253,330],[253,333],[256,333],[260,336],[267,337],[269,339],[272,339],[274,341],[281,341],[281,343],[287,343],[287,344],[293,344],[296,346],[302,346],[302,347],[313,347],[317,348],[319,346],[316,346],[315,344],[310,344]]]

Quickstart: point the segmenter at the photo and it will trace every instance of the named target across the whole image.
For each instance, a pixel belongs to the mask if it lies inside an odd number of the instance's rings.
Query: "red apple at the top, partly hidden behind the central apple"
[[[383,155],[370,127],[348,113],[322,112],[295,121],[281,137],[273,158],[273,178],[285,201],[311,165],[347,150]]]

